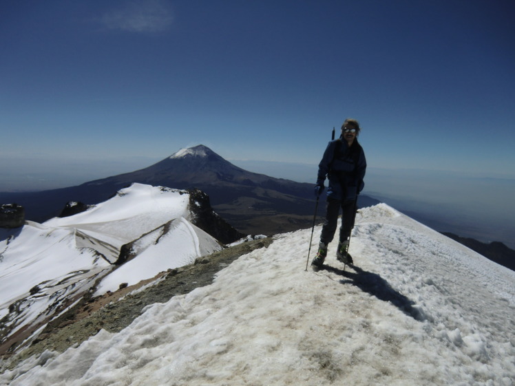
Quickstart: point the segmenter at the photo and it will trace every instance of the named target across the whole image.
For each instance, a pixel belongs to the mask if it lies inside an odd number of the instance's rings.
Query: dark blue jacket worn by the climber
[[[317,185],[324,186],[327,177],[327,197],[341,201],[355,200],[365,186],[365,171],[365,153],[357,138],[350,147],[341,138],[332,140],[318,165]]]

